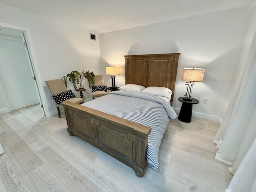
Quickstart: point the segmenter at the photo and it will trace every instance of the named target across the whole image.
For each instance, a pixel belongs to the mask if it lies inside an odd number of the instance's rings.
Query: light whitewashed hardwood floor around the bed
[[[228,165],[214,159],[218,123],[176,118],[166,128],[159,169],[144,177],[66,131],[66,118],[42,116],[39,105],[0,114],[1,192],[224,192]]]

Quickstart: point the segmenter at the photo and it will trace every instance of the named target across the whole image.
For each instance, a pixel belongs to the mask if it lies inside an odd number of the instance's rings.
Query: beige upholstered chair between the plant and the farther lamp
[[[94,84],[92,84],[92,99],[108,94],[107,86],[104,85],[103,75],[94,76]]]

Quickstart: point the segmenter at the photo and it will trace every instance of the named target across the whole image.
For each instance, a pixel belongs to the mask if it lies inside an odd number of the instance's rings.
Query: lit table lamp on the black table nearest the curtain
[[[195,85],[194,82],[203,82],[205,69],[201,68],[183,68],[181,74],[181,80],[186,81],[186,92],[183,100],[192,101],[191,94],[192,88]]]

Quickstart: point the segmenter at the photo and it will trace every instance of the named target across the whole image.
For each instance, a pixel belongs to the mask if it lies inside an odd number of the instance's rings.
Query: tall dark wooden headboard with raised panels
[[[125,55],[125,84],[159,86],[172,90],[173,101],[180,53]]]

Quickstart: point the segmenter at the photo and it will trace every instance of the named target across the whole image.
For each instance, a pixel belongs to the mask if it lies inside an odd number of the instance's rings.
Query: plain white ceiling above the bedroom
[[[0,0],[97,34],[252,6],[255,0]]]

